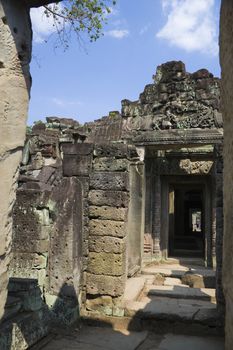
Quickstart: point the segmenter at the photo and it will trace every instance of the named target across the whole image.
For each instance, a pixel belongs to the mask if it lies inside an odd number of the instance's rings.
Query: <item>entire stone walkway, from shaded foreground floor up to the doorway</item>
[[[201,259],[147,264],[128,280],[125,317],[84,318],[78,328],[54,332],[32,349],[222,350],[214,287],[215,271]]]

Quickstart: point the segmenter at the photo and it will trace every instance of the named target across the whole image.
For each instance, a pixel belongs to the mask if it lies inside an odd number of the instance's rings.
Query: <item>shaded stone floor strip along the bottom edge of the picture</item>
[[[224,350],[223,338],[188,335],[155,335],[151,332],[119,332],[85,326],[57,335],[36,350]]]

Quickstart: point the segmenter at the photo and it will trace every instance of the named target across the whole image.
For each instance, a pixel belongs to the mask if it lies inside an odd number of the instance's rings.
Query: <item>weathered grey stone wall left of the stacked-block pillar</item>
[[[69,167],[67,174],[65,162],[62,167],[60,136],[44,124],[28,136],[13,211],[10,275],[37,279],[50,316],[69,324],[79,315],[84,186]]]

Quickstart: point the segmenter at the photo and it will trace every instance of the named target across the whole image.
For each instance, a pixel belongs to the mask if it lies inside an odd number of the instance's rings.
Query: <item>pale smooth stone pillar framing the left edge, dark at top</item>
[[[0,318],[7,294],[11,212],[31,86],[31,37],[29,10],[23,1],[0,0]]]

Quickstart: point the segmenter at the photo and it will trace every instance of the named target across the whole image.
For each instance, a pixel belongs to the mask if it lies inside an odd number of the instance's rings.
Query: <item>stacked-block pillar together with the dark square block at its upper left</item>
[[[85,181],[82,312],[118,315],[127,275],[128,146],[66,143],[62,149],[64,174]]]

